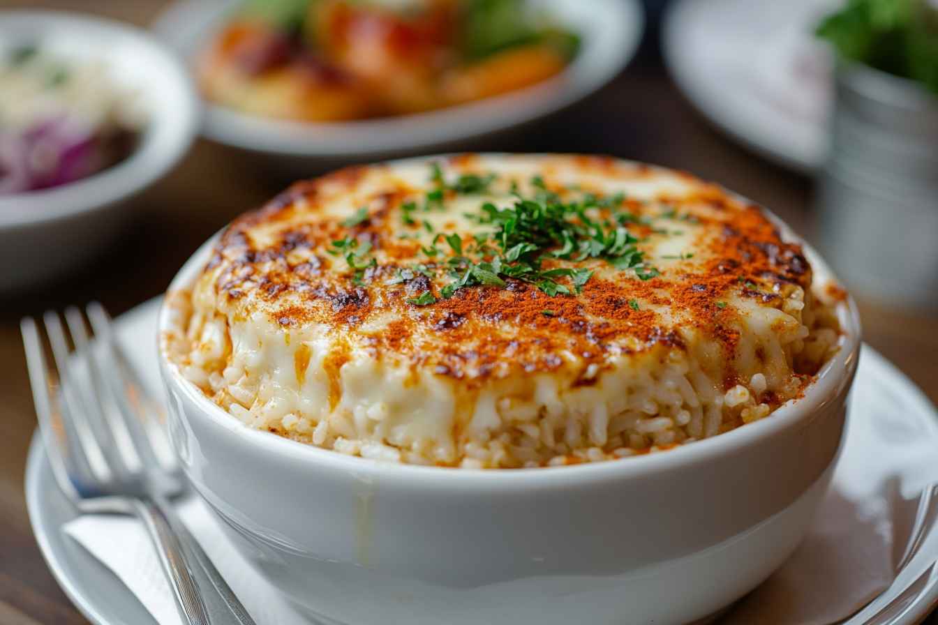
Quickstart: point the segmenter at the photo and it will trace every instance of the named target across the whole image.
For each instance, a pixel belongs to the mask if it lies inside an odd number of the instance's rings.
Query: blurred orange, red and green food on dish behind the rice
[[[205,97],[307,122],[431,111],[557,75],[578,37],[524,0],[248,2],[202,53]]]

